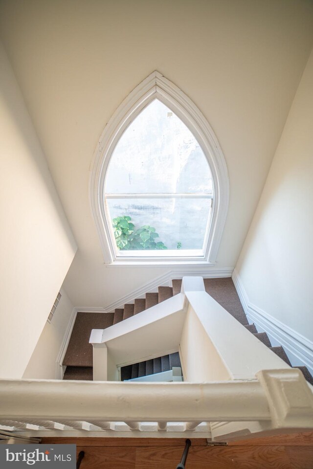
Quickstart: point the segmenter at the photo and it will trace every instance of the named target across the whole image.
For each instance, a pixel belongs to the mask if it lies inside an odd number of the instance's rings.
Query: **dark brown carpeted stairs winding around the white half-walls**
[[[92,380],[92,346],[89,344],[91,330],[110,327],[180,293],[181,279],[173,280],[172,285],[172,287],[158,287],[158,292],[148,292],[145,298],[136,298],[134,303],[125,304],[124,308],[117,308],[114,313],[77,313],[67,352],[63,360],[63,365],[67,366],[63,379]],[[272,347],[266,333],[258,333],[254,324],[248,324],[246,314],[231,278],[204,279],[204,286],[206,292],[223,306],[228,313],[235,317],[276,355],[291,365],[283,347]],[[121,379],[128,380],[160,373],[161,371],[171,369],[172,366],[180,366],[178,353],[125,366],[121,370]],[[299,366],[296,368],[299,368],[305,379],[313,384],[313,377],[307,367]]]

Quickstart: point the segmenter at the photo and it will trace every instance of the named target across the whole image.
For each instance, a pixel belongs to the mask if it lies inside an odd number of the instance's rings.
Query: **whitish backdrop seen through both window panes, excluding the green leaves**
[[[212,195],[211,172],[196,138],[154,100],[118,141],[107,172],[107,209],[112,223],[121,217],[113,223],[117,244],[123,250],[201,249]]]

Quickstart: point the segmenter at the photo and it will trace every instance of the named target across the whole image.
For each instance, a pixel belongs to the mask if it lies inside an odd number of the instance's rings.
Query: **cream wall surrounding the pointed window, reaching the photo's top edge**
[[[234,267],[313,43],[306,0],[2,0],[0,31],[78,243],[74,305],[116,301],[165,268],[108,268],[89,206],[98,138],[153,70],[224,151],[230,205],[218,267]]]

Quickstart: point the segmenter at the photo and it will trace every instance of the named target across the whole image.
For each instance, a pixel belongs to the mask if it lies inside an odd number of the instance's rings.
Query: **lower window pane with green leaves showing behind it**
[[[210,199],[108,199],[107,205],[123,250],[202,248]]]

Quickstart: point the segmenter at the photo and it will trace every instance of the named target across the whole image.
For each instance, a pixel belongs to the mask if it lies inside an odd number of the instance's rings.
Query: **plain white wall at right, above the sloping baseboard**
[[[312,203],[313,53],[236,267],[252,305],[311,340]]]

